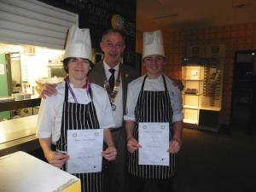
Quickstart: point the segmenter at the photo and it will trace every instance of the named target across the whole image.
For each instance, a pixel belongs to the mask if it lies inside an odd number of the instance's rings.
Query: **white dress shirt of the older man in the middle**
[[[105,70],[105,74],[106,74],[106,78],[107,80],[110,78],[111,73],[108,71],[108,69],[110,69],[110,67],[108,66],[108,64],[103,61],[103,66],[104,66],[104,70]],[[114,79],[116,80],[118,78],[119,75],[119,67],[120,64],[118,64],[116,67],[114,67],[115,69],[115,73],[114,73]],[[114,117],[114,124],[115,126],[113,126],[112,128],[119,128],[123,125],[123,88],[122,88],[122,79],[120,77],[120,88],[119,88],[119,92],[116,95],[113,104],[116,106],[116,109],[113,111],[113,117]]]

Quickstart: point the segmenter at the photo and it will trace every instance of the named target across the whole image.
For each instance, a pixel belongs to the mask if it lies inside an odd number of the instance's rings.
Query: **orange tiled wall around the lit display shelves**
[[[173,78],[181,78],[181,61],[190,45],[224,44],[224,80],[222,96],[221,124],[230,123],[233,64],[237,50],[256,50],[256,21],[239,25],[166,31],[164,34],[167,65],[165,73]]]

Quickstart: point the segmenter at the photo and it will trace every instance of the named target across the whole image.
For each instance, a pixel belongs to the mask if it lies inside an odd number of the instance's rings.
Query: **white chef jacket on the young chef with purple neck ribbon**
[[[72,83],[70,83],[70,86],[79,103],[88,104],[91,102],[90,95],[87,95],[85,89],[74,88]],[[96,84],[90,84],[90,87],[100,127],[113,127],[113,114],[106,90]],[[46,99],[41,101],[38,113],[38,131],[36,134],[39,138],[52,137],[52,143],[57,142],[61,136],[65,82],[57,85],[56,90],[58,91],[56,96],[47,96]],[[68,102],[75,102],[70,91],[68,91]]]

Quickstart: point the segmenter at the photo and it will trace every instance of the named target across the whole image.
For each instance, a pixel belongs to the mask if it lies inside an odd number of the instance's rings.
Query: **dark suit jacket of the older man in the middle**
[[[121,81],[123,86],[123,108],[125,113],[125,104],[126,104],[126,96],[127,96],[127,85],[133,79],[138,78],[138,73],[135,67],[130,67],[125,64],[120,64],[121,70]],[[99,61],[95,64],[95,67],[92,69],[90,73],[90,79],[92,83],[98,84],[104,87],[105,73],[103,67],[103,61]]]

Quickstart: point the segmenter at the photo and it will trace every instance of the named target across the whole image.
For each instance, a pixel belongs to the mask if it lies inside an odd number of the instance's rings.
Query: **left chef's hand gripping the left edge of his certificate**
[[[48,160],[50,165],[61,168],[69,156],[56,151],[49,151],[47,154],[45,154],[45,158]]]

